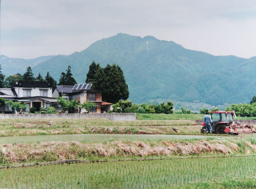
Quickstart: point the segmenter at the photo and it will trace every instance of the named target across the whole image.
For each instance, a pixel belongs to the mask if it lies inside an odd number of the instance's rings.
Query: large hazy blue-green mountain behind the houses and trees
[[[73,77],[84,83],[89,66],[118,64],[134,103],[249,103],[256,95],[256,57],[214,56],[185,49],[173,41],[160,41],[119,33],[91,44],[81,52],[57,55],[32,67],[35,76],[47,71],[58,82],[71,66]],[[4,73],[4,69],[2,66]],[[26,70],[26,69],[25,69]],[[25,71],[24,70],[24,71]]]

